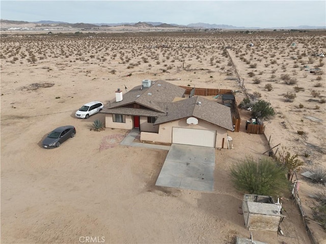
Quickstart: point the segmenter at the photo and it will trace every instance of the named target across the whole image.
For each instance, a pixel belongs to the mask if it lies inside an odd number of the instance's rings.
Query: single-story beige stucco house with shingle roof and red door
[[[104,106],[105,127],[139,128],[141,141],[228,148],[233,131],[230,107],[202,96],[184,98],[185,89],[164,80],[143,80]]]

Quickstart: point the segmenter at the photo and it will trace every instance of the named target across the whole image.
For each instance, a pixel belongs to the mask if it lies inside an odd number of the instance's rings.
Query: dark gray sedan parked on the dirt
[[[76,129],[72,125],[66,125],[58,127],[52,130],[51,133],[42,142],[44,148],[60,147],[61,143],[66,141],[68,138],[74,137]]]

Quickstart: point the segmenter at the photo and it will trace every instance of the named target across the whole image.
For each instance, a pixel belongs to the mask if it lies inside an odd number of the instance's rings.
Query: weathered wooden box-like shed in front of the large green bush
[[[245,194],[242,201],[244,223],[249,229],[278,231],[284,218],[281,208],[270,196]]]

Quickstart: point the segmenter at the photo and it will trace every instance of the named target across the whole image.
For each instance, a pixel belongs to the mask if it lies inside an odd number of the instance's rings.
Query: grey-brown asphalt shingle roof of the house
[[[173,102],[175,97],[183,96],[185,89],[164,80],[152,82],[149,88],[141,88],[142,85],[123,94],[123,100],[120,102],[111,101],[110,105],[104,106],[101,113],[158,117],[154,124],[195,117],[233,130],[231,109],[228,106],[202,96]],[[126,107],[133,103],[138,103],[142,107],[140,109]]]

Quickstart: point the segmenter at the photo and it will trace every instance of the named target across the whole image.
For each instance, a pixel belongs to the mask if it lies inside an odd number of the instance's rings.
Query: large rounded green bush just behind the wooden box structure
[[[231,168],[231,178],[239,191],[249,194],[277,196],[287,186],[284,168],[270,158],[258,162],[248,158]]]

